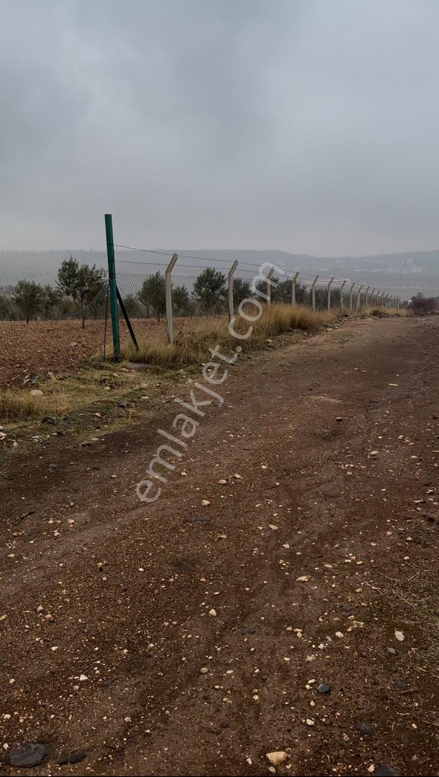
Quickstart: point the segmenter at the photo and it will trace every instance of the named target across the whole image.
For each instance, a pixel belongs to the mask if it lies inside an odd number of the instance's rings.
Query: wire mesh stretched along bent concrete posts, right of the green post
[[[127,249],[126,246],[123,248]],[[131,250],[135,257],[132,262],[126,259],[118,262],[116,254],[116,284],[135,336],[147,337],[150,342],[168,340],[173,343],[191,321],[203,316],[228,315],[230,318],[248,299],[258,298],[268,304],[308,305],[316,311],[338,308],[340,312],[384,304],[382,298],[374,298],[373,292],[378,291],[375,288],[371,290],[344,279],[292,273],[270,264],[258,267],[243,262],[243,267],[237,267],[236,262],[230,267],[230,262],[224,261],[226,267],[218,267],[213,262],[205,265],[201,262],[209,262],[206,257],[184,254],[163,253],[166,261],[161,261],[161,257],[157,259],[155,255],[143,260],[139,258],[139,253],[141,251],[142,256],[149,253],[147,250]],[[188,263],[195,258],[199,264]],[[167,270],[168,260],[171,264]]]

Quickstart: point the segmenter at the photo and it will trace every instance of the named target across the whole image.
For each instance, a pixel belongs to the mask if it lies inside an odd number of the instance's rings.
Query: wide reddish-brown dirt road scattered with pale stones
[[[437,775],[438,348],[363,320],[238,361],[153,505],[173,396],[3,477],[2,773],[30,740],[37,775]]]

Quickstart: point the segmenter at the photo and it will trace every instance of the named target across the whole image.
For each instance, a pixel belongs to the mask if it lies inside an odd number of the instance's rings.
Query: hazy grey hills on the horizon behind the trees
[[[167,251],[168,249],[162,249]],[[169,253],[172,253],[170,250]],[[406,253],[379,254],[376,256],[309,256],[286,251],[235,251],[233,249],[177,249],[180,256],[175,274],[194,275],[199,267],[206,266],[205,257],[224,272],[234,260],[240,262],[238,269],[250,274],[251,267],[244,263],[260,265],[271,262],[285,270],[299,270],[302,274],[320,274],[347,278],[355,283],[371,285],[393,291],[402,298],[409,298],[417,291],[424,294],[439,294],[439,250],[411,251]],[[83,249],[60,249],[54,251],[0,251],[0,287],[16,284],[20,278],[33,279],[40,283],[54,284],[57,269],[62,260],[71,254],[80,263],[106,267],[105,251]],[[140,253],[118,249],[116,261],[119,272],[136,274],[150,273],[164,268],[167,256],[155,253]],[[145,264],[136,264],[137,262]],[[185,266],[188,269],[185,269]],[[309,280],[302,277],[302,280]]]

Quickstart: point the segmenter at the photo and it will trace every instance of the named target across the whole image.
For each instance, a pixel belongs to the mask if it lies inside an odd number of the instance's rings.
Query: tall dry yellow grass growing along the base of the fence
[[[256,315],[253,305],[248,308],[248,315]],[[321,326],[334,321],[335,317],[336,312],[314,313],[300,305],[272,305],[271,308],[264,308],[261,318],[255,322],[247,322],[237,315],[233,326],[239,334],[247,333],[249,327],[253,326],[251,336],[246,340],[238,340],[243,348],[248,348],[285,332],[316,332]],[[121,355],[123,359],[154,364],[157,367],[182,367],[206,361],[209,348],[216,345],[232,348],[236,343],[237,339],[230,334],[226,319],[199,319],[189,322],[175,336],[172,346],[143,338],[140,340],[139,350],[135,350],[131,341],[122,343]]]

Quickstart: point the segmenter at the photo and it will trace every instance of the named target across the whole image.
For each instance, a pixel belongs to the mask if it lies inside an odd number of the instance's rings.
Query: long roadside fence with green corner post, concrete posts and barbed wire
[[[113,242],[112,217],[105,215],[105,230],[107,238],[107,256],[109,260],[109,286],[110,298],[116,298],[116,291],[123,300],[124,315],[141,317],[146,312],[148,318],[150,312],[160,321],[166,318],[167,340],[174,343],[174,317],[182,315],[213,315],[219,312],[227,313],[229,320],[233,319],[235,306],[240,309],[244,301],[252,301],[256,296],[264,298],[268,308],[271,301],[288,304],[306,304],[309,302],[313,311],[316,308],[327,309],[333,306],[344,311],[344,286],[349,282],[346,278],[336,279],[317,274],[315,276],[300,272],[299,270],[285,270],[275,267],[272,263],[264,262],[261,267],[250,262],[238,262],[234,260],[213,260],[207,256],[194,256],[191,254],[171,253],[158,249],[134,248]],[[156,270],[155,273],[130,274],[126,271],[116,270],[116,249],[131,250],[134,252],[154,253],[161,256],[171,256],[168,263],[151,263],[147,261],[133,261],[137,266],[164,267],[164,273]],[[188,259],[208,262],[207,267],[202,265],[178,265],[178,259]],[[130,261],[120,260],[119,264],[130,264]],[[218,263],[227,264],[224,272],[216,269]],[[173,271],[177,265],[175,275]],[[238,267],[244,268],[236,274]],[[253,272],[250,269],[252,268]],[[178,275],[179,270],[198,270],[193,276]],[[265,273],[262,270],[266,270]],[[277,273],[275,275],[275,272]],[[302,280],[302,282],[301,282]],[[250,282],[251,281],[251,282]],[[117,287],[117,288],[116,288]],[[361,311],[364,305],[369,304],[368,292],[370,285],[351,284],[349,289],[349,309],[354,309],[354,289],[356,291],[355,310]],[[396,294],[385,294],[381,289],[374,288],[370,295],[371,305],[399,308],[400,298]],[[112,315],[114,315],[112,311]],[[119,356],[119,312],[116,313],[118,322],[113,322],[113,350],[116,357]]]

